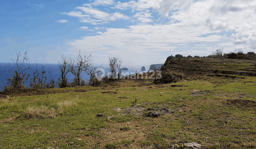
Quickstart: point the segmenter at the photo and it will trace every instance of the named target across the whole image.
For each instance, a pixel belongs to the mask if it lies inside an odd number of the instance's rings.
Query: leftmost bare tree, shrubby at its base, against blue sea
[[[27,51],[23,55],[21,55],[21,52],[22,50],[19,52],[16,50],[16,57],[11,58],[14,66],[11,67],[9,64],[9,73],[11,78],[7,78],[7,84],[10,83],[10,86],[15,89],[25,88],[25,81],[27,81],[28,77],[30,76],[26,73],[26,70],[31,68],[31,64],[27,56]]]

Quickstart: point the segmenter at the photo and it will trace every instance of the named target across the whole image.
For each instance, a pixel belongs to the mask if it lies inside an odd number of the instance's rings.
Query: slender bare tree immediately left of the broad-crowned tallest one
[[[68,72],[70,72],[70,63],[71,59],[68,55],[61,55],[61,59],[58,60],[59,70],[61,73],[61,78],[58,78],[58,85],[60,88],[65,88],[68,86],[68,79],[66,78],[66,75]]]

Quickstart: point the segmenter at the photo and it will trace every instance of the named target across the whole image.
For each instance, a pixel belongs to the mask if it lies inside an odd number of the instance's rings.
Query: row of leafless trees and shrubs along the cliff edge
[[[22,54],[22,50],[17,52],[16,57],[11,58],[13,62],[13,66],[9,64],[9,73],[11,75],[10,78],[7,78],[8,87],[5,87],[6,90],[10,89],[21,89],[27,88],[25,82],[29,79],[30,88],[32,89],[44,89],[44,88],[66,88],[66,87],[75,87],[75,86],[99,86],[103,83],[112,82],[116,79],[121,79],[121,64],[122,61],[119,57],[109,57],[108,58],[108,70],[110,71],[110,75],[105,75],[103,78],[101,75],[103,72],[101,71],[101,66],[94,66],[95,59],[92,55],[87,53],[81,53],[76,57],[71,57],[68,54],[62,54],[60,59],[58,60],[58,68],[59,68],[59,78],[57,82],[54,79],[48,79],[46,75],[46,70],[44,67],[38,69],[38,64],[31,63],[30,59],[27,55],[27,51]],[[32,70],[32,75],[28,73],[28,70]],[[117,72],[118,70],[118,72]],[[31,71],[30,71],[31,72]],[[81,73],[85,72],[90,78],[87,82],[82,79]],[[51,71],[48,72],[51,76]],[[74,78],[69,81],[67,78],[68,73],[71,73]]]

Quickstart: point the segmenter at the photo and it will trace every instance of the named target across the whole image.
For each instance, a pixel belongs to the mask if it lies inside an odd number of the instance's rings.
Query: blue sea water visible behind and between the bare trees
[[[14,66],[13,63],[0,63],[0,91],[2,91],[5,88],[5,86],[9,85],[7,84],[8,83],[7,78],[11,77],[9,70],[10,70],[10,67],[13,67],[13,66]],[[44,74],[44,77],[47,76],[47,79],[48,79],[47,82],[49,82],[50,79],[54,79],[56,84],[56,82],[58,81],[58,78],[60,78],[60,71],[58,68],[58,64],[38,64],[37,66],[34,65],[31,69],[26,71],[27,74],[30,74],[30,77],[28,77],[28,80],[25,82],[28,88],[30,88],[29,86],[30,78],[32,78],[33,72],[35,70],[42,70],[42,67],[43,67],[43,70],[46,71],[46,73]],[[105,71],[105,75],[109,73],[107,67],[102,67],[102,69],[103,69],[102,71]],[[127,76],[128,74],[132,74],[133,70],[129,69],[128,71],[122,71],[122,72],[126,73],[126,76]],[[90,76],[87,75],[85,72],[81,73],[81,77],[84,80],[90,78]],[[69,81],[71,81],[75,78],[75,76],[72,75],[71,73],[68,73],[67,78],[69,79]],[[57,87],[57,85],[55,87]]]

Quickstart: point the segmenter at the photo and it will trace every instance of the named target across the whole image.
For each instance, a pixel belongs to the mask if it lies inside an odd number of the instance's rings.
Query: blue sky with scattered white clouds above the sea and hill
[[[170,55],[256,53],[256,0],[0,1],[0,62],[15,51],[57,64],[91,54],[95,64],[162,64]]]

